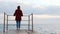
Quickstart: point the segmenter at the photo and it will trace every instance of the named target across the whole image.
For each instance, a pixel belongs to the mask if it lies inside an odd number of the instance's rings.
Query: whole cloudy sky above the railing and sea
[[[0,16],[4,12],[13,15],[18,5],[24,14],[33,13],[34,20],[38,23],[60,22],[60,0],[0,0]],[[0,17],[1,20],[2,18],[3,16]]]

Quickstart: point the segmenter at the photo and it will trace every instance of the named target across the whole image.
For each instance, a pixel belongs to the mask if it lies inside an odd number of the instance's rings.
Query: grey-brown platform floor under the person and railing
[[[0,32],[0,34],[38,34],[35,31],[27,31],[27,30],[9,30],[6,32]]]

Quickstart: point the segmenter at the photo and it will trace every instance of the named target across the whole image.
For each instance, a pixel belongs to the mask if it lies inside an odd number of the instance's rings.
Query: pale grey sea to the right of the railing
[[[58,24],[40,24],[35,25],[35,30],[40,34],[60,34],[60,25]]]

